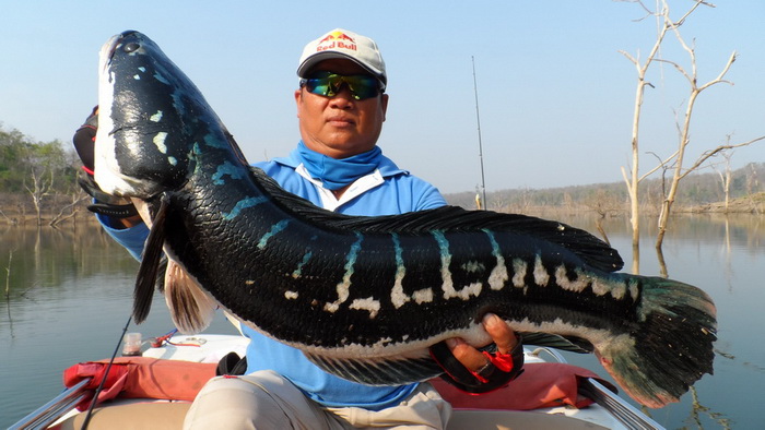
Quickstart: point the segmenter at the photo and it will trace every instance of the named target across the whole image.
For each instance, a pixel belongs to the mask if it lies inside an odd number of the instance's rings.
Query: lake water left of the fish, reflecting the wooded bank
[[[111,356],[131,312],[138,263],[93,226],[11,228],[0,230],[0,428],[7,428],[63,389],[66,368]],[[148,338],[172,329],[157,295],[146,322],[130,331]],[[234,333],[222,315],[209,331]]]

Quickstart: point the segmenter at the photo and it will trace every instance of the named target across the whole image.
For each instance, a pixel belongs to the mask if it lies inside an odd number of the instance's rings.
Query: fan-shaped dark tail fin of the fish
[[[627,394],[657,408],[678,402],[704,373],[713,373],[716,311],[696,287],[661,277],[640,279],[637,327],[596,345],[596,355]]]

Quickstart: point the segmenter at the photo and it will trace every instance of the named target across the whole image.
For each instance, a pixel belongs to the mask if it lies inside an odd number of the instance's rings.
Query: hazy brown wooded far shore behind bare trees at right
[[[674,211],[715,210],[725,201],[723,182],[720,174],[710,168],[692,174],[680,182]],[[651,179],[640,182],[640,205],[648,212],[658,211],[668,190],[671,171],[666,179],[655,174]],[[731,171],[730,199],[737,202],[754,199],[765,191],[765,163],[751,163]],[[446,194],[449,204],[475,208],[475,191]],[[750,199],[751,198],[751,199]],[[599,212],[622,212],[627,210],[628,198],[624,182],[595,183],[550,189],[508,189],[486,193],[486,208],[502,212],[534,212],[545,207],[591,208]],[[742,207],[739,207],[742,210]],[[744,208],[745,210],[745,208]],[[745,211],[749,212],[749,211]]]

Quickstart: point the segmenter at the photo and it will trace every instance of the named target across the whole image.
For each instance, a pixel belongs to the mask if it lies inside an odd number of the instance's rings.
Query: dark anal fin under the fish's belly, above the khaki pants
[[[429,355],[419,358],[332,358],[304,353],[321,370],[364,385],[402,385],[444,373]]]

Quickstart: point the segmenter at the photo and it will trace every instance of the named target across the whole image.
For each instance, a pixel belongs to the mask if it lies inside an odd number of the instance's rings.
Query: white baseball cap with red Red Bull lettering
[[[305,74],[316,63],[332,58],[343,58],[356,62],[380,80],[384,88],[388,83],[385,61],[382,61],[382,55],[375,40],[343,28],[328,32],[318,39],[309,41],[303,48],[297,75],[306,77]]]

